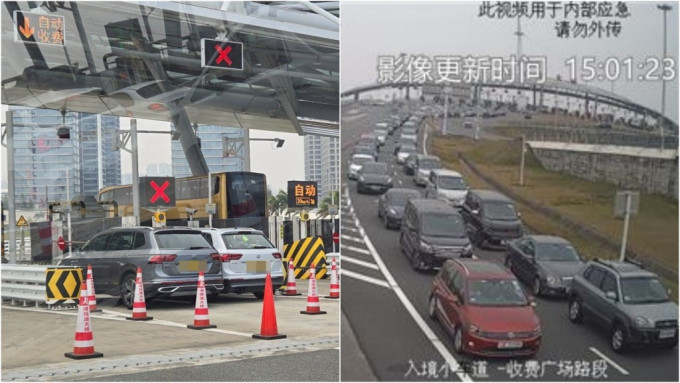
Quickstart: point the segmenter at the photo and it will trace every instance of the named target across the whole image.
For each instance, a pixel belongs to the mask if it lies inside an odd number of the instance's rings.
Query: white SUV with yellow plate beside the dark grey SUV
[[[271,273],[274,291],[283,283],[281,253],[264,234],[247,227],[201,229],[220,254],[224,293],[253,293],[264,297],[264,282]]]

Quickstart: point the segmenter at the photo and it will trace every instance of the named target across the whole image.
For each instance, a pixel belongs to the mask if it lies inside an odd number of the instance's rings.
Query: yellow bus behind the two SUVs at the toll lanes
[[[252,227],[269,231],[267,211],[267,178],[261,173],[224,172],[211,174],[212,203],[216,205],[213,227]],[[132,216],[132,185],[109,186],[101,189],[99,203],[116,206],[119,217]],[[186,225],[192,218],[201,227],[208,223],[205,211],[208,203],[208,176],[175,179],[174,208],[165,211],[166,224]],[[155,210],[155,209],[154,209]],[[193,215],[191,214],[193,213]],[[140,209],[140,224],[151,225],[151,210]]]

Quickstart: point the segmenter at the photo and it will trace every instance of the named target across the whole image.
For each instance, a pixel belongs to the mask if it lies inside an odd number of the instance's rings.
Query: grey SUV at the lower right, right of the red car
[[[630,261],[596,259],[574,276],[569,319],[581,323],[585,317],[606,325],[616,352],[632,345],[678,344],[678,305],[656,274]]]

